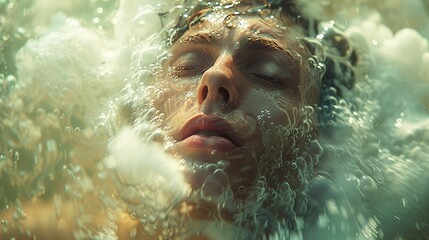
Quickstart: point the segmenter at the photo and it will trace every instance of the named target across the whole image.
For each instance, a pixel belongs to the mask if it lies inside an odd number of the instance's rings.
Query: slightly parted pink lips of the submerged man
[[[176,139],[185,152],[227,153],[240,148],[232,127],[222,118],[208,115],[189,119]]]

